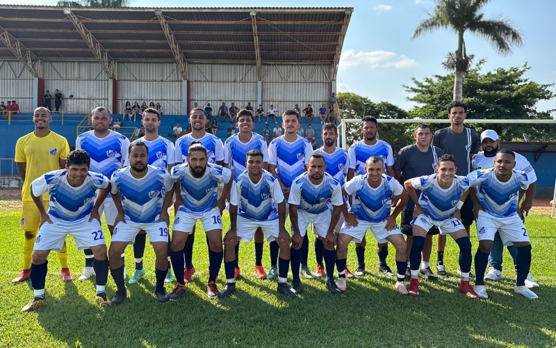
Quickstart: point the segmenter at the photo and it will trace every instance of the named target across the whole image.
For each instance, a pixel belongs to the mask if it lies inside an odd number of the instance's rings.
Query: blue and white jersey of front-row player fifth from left
[[[307,172],[293,180],[289,204],[298,205],[298,209],[311,214],[320,214],[328,210],[328,202],[332,205],[344,204],[342,185],[329,173],[325,173],[318,185],[311,182]]]

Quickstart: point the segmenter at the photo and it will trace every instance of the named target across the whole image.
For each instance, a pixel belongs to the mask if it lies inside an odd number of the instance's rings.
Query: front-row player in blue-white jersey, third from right
[[[371,230],[379,243],[391,242],[395,248],[395,263],[398,269],[395,289],[407,294],[405,287],[405,268],[407,266],[407,245],[402,231],[395,223],[396,217],[407,205],[407,193],[393,177],[383,174],[384,161],[381,157],[369,157],[365,164],[366,174],[357,175],[342,188],[342,193],[352,196],[352,208],[345,216],[336,248],[336,268],[338,269],[338,288],[345,290],[345,260],[347,245],[353,240],[361,242],[367,230]],[[399,198],[398,204],[390,214],[392,197]]]

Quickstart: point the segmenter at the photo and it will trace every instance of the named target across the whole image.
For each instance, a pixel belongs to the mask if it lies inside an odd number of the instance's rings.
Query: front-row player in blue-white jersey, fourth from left
[[[269,242],[276,240],[280,246],[277,292],[295,297],[297,295],[288,288],[286,283],[290,268],[291,239],[284,226],[286,223],[284,193],[276,177],[265,171],[264,155],[261,150],[250,150],[246,157],[247,171],[236,176],[231,187],[230,229],[224,237],[224,269],[227,285],[220,292],[220,297],[229,296],[236,291],[234,281],[236,245],[240,240],[251,242],[256,234],[255,231],[259,230],[263,231]]]

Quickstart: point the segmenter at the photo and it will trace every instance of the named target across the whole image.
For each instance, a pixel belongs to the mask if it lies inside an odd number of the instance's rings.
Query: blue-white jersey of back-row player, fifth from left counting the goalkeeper
[[[239,140],[239,134],[234,134],[226,139],[224,143],[224,163],[230,164],[230,168],[234,171],[236,177],[247,169],[245,162],[247,161],[247,152],[250,150],[263,152],[263,162],[268,162],[268,146],[263,136],[252,133],[251,140],[247,143],[242,143]]]

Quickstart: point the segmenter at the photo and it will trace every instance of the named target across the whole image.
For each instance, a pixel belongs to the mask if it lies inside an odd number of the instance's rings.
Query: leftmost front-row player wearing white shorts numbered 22
[[[65,169],[46,173],[31,183],[31,198],[40,212],[40,229],[31,264],[35,296],[22,312],[32,312],[47,305],[44,299],[47,257],[51,250],[62,249],[67,235],[74,237],[77,248],[91,249],[97,274],[97,302],[103,307],[110,306],[105,291],[108,279],[106,244],[98,212],[91,214],[97,189],[108,191],[110,182],[104,175],[89,171],[90,161],[87,152],[74,150],[67,156]],[[48,212],[42,201],[42,194],[47,192],[50,194]],[[97,200],[96,204],[100,205],[102,200]]]

